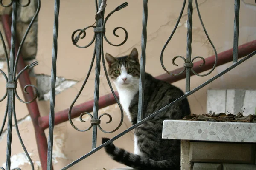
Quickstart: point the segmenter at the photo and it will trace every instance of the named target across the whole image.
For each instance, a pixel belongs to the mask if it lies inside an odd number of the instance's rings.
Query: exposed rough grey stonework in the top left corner
[[[3,4],[6,5],[10,2],[10,0],[3,0]],[[21,4],[26,4],[27,0],[20,0]],[[29,6],[27,7],[18,7],[17,10],[17,39],[20,42],[26,32],[26,29],[29,26],[29,23],[31,22],[33,16],[35,15],[35,12],[37,10],[37,0],[31,0]],[[12,13],[12,6],[5,8],[0,6],[0,15],[3,14],[9,14],[11,16]],[[23,48],[21,50],[21,54],[23,56],[23,59],[25,60],[31,60],[35,59],[36,53],[37,53],[37,20],[33,23],[26,40],[23,44]],[[6,43],[6,37],[3,30],[3,24],[0,22],[0,30],[3,34],[5,43]],[[8,55],[10,53],[9,47],[6,43],[6,48],[8,51]],[[0,42],[0,61],[5,60],[5,54],[3,50],[3,44]]]

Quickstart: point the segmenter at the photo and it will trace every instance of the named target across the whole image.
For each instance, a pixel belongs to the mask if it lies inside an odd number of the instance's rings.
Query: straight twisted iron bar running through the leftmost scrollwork
[[[11,51],[10,51],[10,70],[8,75],[8,83],[13,84],[13,77],[15,76],[14,62],[15,62],[15,43],[16,43],[16,17],[17,17],[17,1],[12,1],[12,37],[11,37]],[[7,149],[6,149],[6,170],[11,170],[11,151],[12,151],[12,102],[14,100],[14,89],[8,90],[8,123],[7,123]]]

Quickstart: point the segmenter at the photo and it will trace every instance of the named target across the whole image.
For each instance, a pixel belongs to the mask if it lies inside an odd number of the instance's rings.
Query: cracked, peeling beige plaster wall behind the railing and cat
[[[116,6],[125,1],[109,0],[105,14],[108,14]],[[128,54],[132,48],[136,47],[140,51],[140,39],[142,30],[142,8],[143,3],[139,0],[130,0],[128,7],[117,11],[113,14],[106,24],[106,36],[112,43],[120,43],[124,38],[122,30],[117,31],[119,37],[114,37],[112,32],[117,26],[122,26],[128,31],[128,40],[121,47],[113,47],[104,41],[104,52],[113,54],[114,56]],[[208,34],[214,43],[217,52],[222,52],[233,47],[233,18],[234,18],[234,1],[233,0],[198,0],[199,8],[201,10],[202,19]],[[240,32],[239,45],[256,39],[256,6],[252,5],[254,0],[242,0],[240,8]],[[36,59],[39,65],[35,67],[36,74],[48,74],[51,71],[51,55],[52,55],[52,24],[53,24],[53,6],[52,0],[41,1],[41,12],[38,18],[38,53]],[[165,44],[167,38],[172,32],[173,27],[177,21],[180,8],[182,6],[181,0],[152,0],[148,2],[148,41],[147,41],[147,60],[146,71],[154,76],[163,74],[163,68],[160,65],[160,52]],[[195,4],[194,4],[195,7]],[[187,8],[187,7],[186,7]],[[72,79],[78,81],[73,87],[61,92],[56,96],[55,111],[61,111],[69,108],[71,102],[78,93],[83,80],[87,74],[90,66],[90,60],[93,53],[93,45],[86,49],[76,48],[72,45],[71,34],[78,28],[84,28],[94,23],[95,6],[93,0],[76,0],[65,1],[61,0],[61,9],[59,17],[59,37],[58,37],[58,61],[57,61],[57,75],[65,79]],[[180,21],[180,26],[169,43],[164,53],[164,63],[168,70],[173,70],[177,67],[172,65],[172,58],[176,55],[186,55],[186,9]],[[207,37],[198,20],[196,9],[193,14],[193,41],[192,41],[192,56],[208,57],[213,55],[213,50],[207,41]],[[93,36],[93,31],[87,31],[87,37],[81,42],[87,44]],[[183,65],[183,61],[179,60],[177,63]],[[195,88],[207,79],[220,73],[232,63],[221,65],[206,77],[191,78],[191,88]],[[3,65],[3,70],[6,71],[6,65]],[[209,88],[242,88],[242,89],[256,89],[256,58],[253,57],[249,61],[239,65],[233,71],[225,74],[206,87],[202,88],[197,93],[189,96],[189,102],[192,108],[192,113],[201,114],[206,111],[206,91]],[[76,104],[93,99],[94,88],[94,74],[93,70],[87,85],[84,88],[81,96]],[[33,78],[32,78],[33,79]],[[101,71],[101,86],[100,95],[108,94],[110,89],[105,80],[103,68]],[[33,79],[35,82],[35,79]],[[184,90],[185,81],[181,80],[175,82],[174,85]],[[0,89],[5,88],[3,77],[0,76]],[[18,93],[21,95],[20,88]],[[0,91],[2,96],[3,90]],[[3,117],[6,100],[0,103],[0,117]],[[49,101],[38,102],[41,116],[49,114]],[[17,119],[20,121],[19,128],[23,141],[29,153],[32,154],[32,159],[35,162],[35,169],[40,170],[37,147],[35,143],[34,130],[32,122],[29,120],[26,105],[16,102]],[[102,117],[102,127],[105,130],[113,130],[119,123],[120,111],[117,105],[112,105],[99,111],[102,113],[109,113],[113,117],[111,124],[105,124],[108,118]],[[73,121],[75,125],[83,129],[88,127],[89,121],[82,123],[79,119]],[[131,123],[125,117],[123,125],[115,133],[105,134],[98,130],[98,145],[100,144],[102,136],[113,137],[121,133]],[[48,129],[45,130],[48,135]],[[92,130],[88,132],[78,132],[70,125],[69,122],[62,123],[55,126],[54,130],[54,167],[55,170],[61,169],[65,165],[75,161],[79,157],[88,153],[91,150],[91,136]],[[3,137],[2,137],[3,136]],[[0,165],[5,162],[6,153],[6,133],[0,139]],[[128,133],[122,138],[116,140],[114,143],[119,147],[133,152],[133,135]],[[29,170],[27,160],[23,156],[22,147],[17,139],[15,129],[13,130],[12,142],[12,160],[14,164],[21,167],[23,170]],[[93,154],[84,159],[70,170],[102,170],[123,167],[117,164],[106,156],[104,150]]]

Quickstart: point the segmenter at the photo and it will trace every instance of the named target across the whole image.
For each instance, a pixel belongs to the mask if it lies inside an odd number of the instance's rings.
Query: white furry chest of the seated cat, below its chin
[[[131,121],[131,113],[129,111],[129,106],[131,101],[134,99],[135,94],[137,94],[137,90],[135,89],[121,89],[118,91],[120,103],[122,105],[123,110],[125,111],[128,119]]]

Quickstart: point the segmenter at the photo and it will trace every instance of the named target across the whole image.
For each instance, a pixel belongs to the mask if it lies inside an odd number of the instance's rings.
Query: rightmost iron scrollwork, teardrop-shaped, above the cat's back
[[[206,31],[206,28],[204,26],[204,23],[203,23],[203,20],[201,18],[201,14],[200,14],[200,11],[199,11],[199,7],[198,7],[198,2],[197,0],[195,0],[195,6],[196,6],[196,10],[198,12],[198,17],[199,17],[199,20],[201,22],[201,25],[204,29],[204,33],[205,35],[207,36],[207,39],[209,40],[212,48],[213,48],[213,51],[214,51],[214,54],[215,54],[215,62],[214,62],[214,65],[212,67],[212,69],[206,73],[206,74],[198,74],[194,71],[193,69],[193,62],[195,59],[201,59],[203,61],[203,63],[201,65],[199,65],[199,67],[201,66],[204,66],[205,65],[205,59],[201,56],[196,56],[194,57],[193,59],[191,59],[191,52],[192,52],[192,48],[191,48],[191,43],[192,43],[192,14],[193,14],[193,6],[192,6],[192,0],[189,0],[188,2],[188,20],[187,20],[187,55],[186,55],[186,59],[182,56],[176,56],[172,59],[172,64],[175,65],[175,66],[178,66],[177,64],[175,64],[175,59],[177,58],[181,58],[184,60],[184,68],[182,71],[180,71],[180,73],[177,73],[177,74],[172,74],[170,73],[166,67],[164,66],[163,64],[163,53],[164,53],[164,50],[166,48],[166,46],[168,45],[168,43],[170,42],[170,40],[172,39],[172,36],[174,35],[177,27],[178,27],[178,24],[180,23],[180,19],[182,17],[182,14],[183,14],[183,11],[184,11],[184,8],[185,8],[185,5],[186,5],[186,0],[183,1],[183,6],[181,8],[181,11],[180,11],[180,15],[177,19],[177,23],[175,24],[175,27],[172,31],[172,34],[170,35],[169,39],[167,40],[166,44],[163,46],[163,49],[161,51],[161,55],[160,55],[160,62],[161,62],[161,65],[164,69],[164,71],[166,71],[166,73],[170,74],[170,75],[173,75],[173,76],[177,76],[177,75],[180,75],[180,74],[183,74],[185,71],[186,71],[186,92],[190,91],[190,71],[193,72],[193,74],[197,75],[197,76],[207,76],[209,75],[210,73],[212,73],[212,71],[215,69],[216,65],[217,65],[217,51]]]

